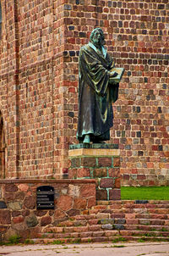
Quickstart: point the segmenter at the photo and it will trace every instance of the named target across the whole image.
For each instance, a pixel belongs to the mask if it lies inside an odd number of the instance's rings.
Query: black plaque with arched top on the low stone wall
[[[36,209],[54,209],[54,188],[39,186],[36,189]]]

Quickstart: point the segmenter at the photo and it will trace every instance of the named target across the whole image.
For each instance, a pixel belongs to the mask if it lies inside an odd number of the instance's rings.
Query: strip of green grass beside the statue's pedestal
[[[169,200],[169,186],[122,186],[122,200]]]

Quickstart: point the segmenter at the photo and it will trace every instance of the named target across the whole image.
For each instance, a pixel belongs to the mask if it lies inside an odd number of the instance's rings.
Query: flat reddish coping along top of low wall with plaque
[[[35,179],[14,179],[14,180],[0,180],[0,184],[8,183],[95,183],[95,180],[72,180],[72,179],[62,179],[62,180],[35,180]]]

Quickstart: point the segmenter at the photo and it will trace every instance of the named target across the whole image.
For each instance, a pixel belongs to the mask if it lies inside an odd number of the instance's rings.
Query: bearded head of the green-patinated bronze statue
[[[101,47],[105,44],[105,36],[101,28],[95,28],[90,34],[90,41],[95,47]]]

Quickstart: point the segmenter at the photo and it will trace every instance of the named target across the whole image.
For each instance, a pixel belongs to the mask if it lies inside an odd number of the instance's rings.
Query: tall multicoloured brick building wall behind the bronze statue
[[[124,185],[168,185],[167,0],[2,2],[0,109],[6,177],[59,177],[77,142],[78,55],[95,26],[126,72],[112,143]]]

